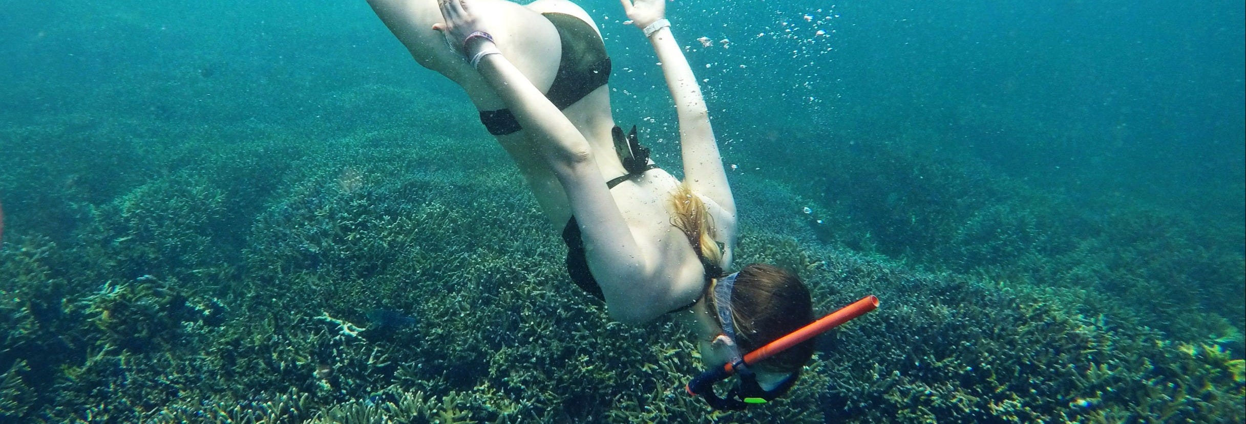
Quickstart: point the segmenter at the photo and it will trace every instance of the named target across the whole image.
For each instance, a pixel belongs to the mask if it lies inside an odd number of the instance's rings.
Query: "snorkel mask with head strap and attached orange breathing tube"
[[[723,344],[728,347],[729,358],[723,367],[706,369],[700,373],[700,376],[697,376],[697,378],[693,378],[693,380],[684,387],[684,390],[687,390],[688,394],[704,398],[711,408],[719,410],[740,410],[749,404],[766,403],[784,395],[800,378],[800,372],[787,376],[787,378],[780,382],[779,385],[766,390],[758,383],[756,374],[749,369],[749,366],[770,358],[779,352],[786,351],[792,346],[800,344],[804,341],[814,338],[814,336],[821,334],[878,307],[877,297],[866,296],[852,305],[845,306],[839,311],[831,312],[825,317],[814,321],[805,327],[779,337],[756,351],[741,356],[739,337],[735,331],[735,320],[731,318],[731,290],[735,288],[735,279],[739,275],[740,272],[735,272],[720,279],[718,283],[714,285],[713,293],[718,321],[723,325],[723,336],[719,337],[725,338]],[[726,393],[726,397],[719,397],[714,393],[714,384],[731,377],[731,374],[740,377],[739,384],[733,387],[731,390]]]

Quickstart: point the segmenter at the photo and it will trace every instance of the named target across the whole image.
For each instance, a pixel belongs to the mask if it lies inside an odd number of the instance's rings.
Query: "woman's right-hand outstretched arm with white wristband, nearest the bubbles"
[[[667,0],[619,0],[628,19],[644,30],[662,63],[667,88],[675,101],[679,117],[679,144],[684,162],[684,180],[735,216],[735,199],[726,183],[726,170],[709,124],[709,109],[688,58],[670,34],[665,20]],[[725,224],[725,223],[723,223]]]

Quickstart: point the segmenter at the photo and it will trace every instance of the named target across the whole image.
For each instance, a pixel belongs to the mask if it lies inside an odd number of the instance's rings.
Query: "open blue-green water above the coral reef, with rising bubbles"
[[[662,118],[665,108],[642,104],[664,96],[647,46],[613,1],[582,5],[618,63],[612,85],[635,93],[616,94],[617,109]],[[915,137],[1039,184],[1242,216],[1240,1],[670,9],[728,143]],[[358,85],[461,96],[419,70],[361,1],[16,4],[0,20],[10,123],[92,108],[284,123],[314,119],[335,90]]]

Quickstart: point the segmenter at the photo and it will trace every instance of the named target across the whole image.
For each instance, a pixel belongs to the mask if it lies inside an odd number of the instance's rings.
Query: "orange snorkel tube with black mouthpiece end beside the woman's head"
[[[877,296],[870,295],[862,297],[861,300],[852,302],[851,305],[845,306],[839,311],[827,313],[825,317],[821,317],[817,321],[814,321],[807,326],[800,327],[799,330],[787,333],[787,336],[779,337],[778,339],[766,343],[766,346],[759,347],[755,351],[749,352],[748,354],[744,356],[741,362],[746,367],[765,361],[766,358],[770,358],[778,354],[779,352],[786,351],[792,346],[800,344],[801,342],[814,338],[814,336],[821,334],[831,328],[839,327],[845,322],[852,321],[852,318],[860,317],[866,312],[873,311],[877,307],[878,307]],[[731,374],[734,374],[735,372],[736,372],[736,364],[728,362],[723,364],[721,368],[715,367],[709,371],[705,371],[700,376],[697,376],[697,378],[693,378],[692,382],[684,385],[684,390],[687,390],[688,394],[690,395],[705,394],[705,400],[709,402],[710,405],[714,407],[715,409],[735,409],[735,408],[724,408],[728,404],[724,403],[721,398],[718,398],[718,395],[714,394],[714,383],[726,379],[728,377],[731,377]]]

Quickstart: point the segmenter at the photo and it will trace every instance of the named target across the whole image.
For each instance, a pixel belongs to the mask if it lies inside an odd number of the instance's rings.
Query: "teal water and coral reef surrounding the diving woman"
[[[678,174],[652,50],[579,4]],[[10,1],[0,423],[1242,423],[1244,7],[672,2],[736,264],[882,301],[711,413],[364,1]]]

